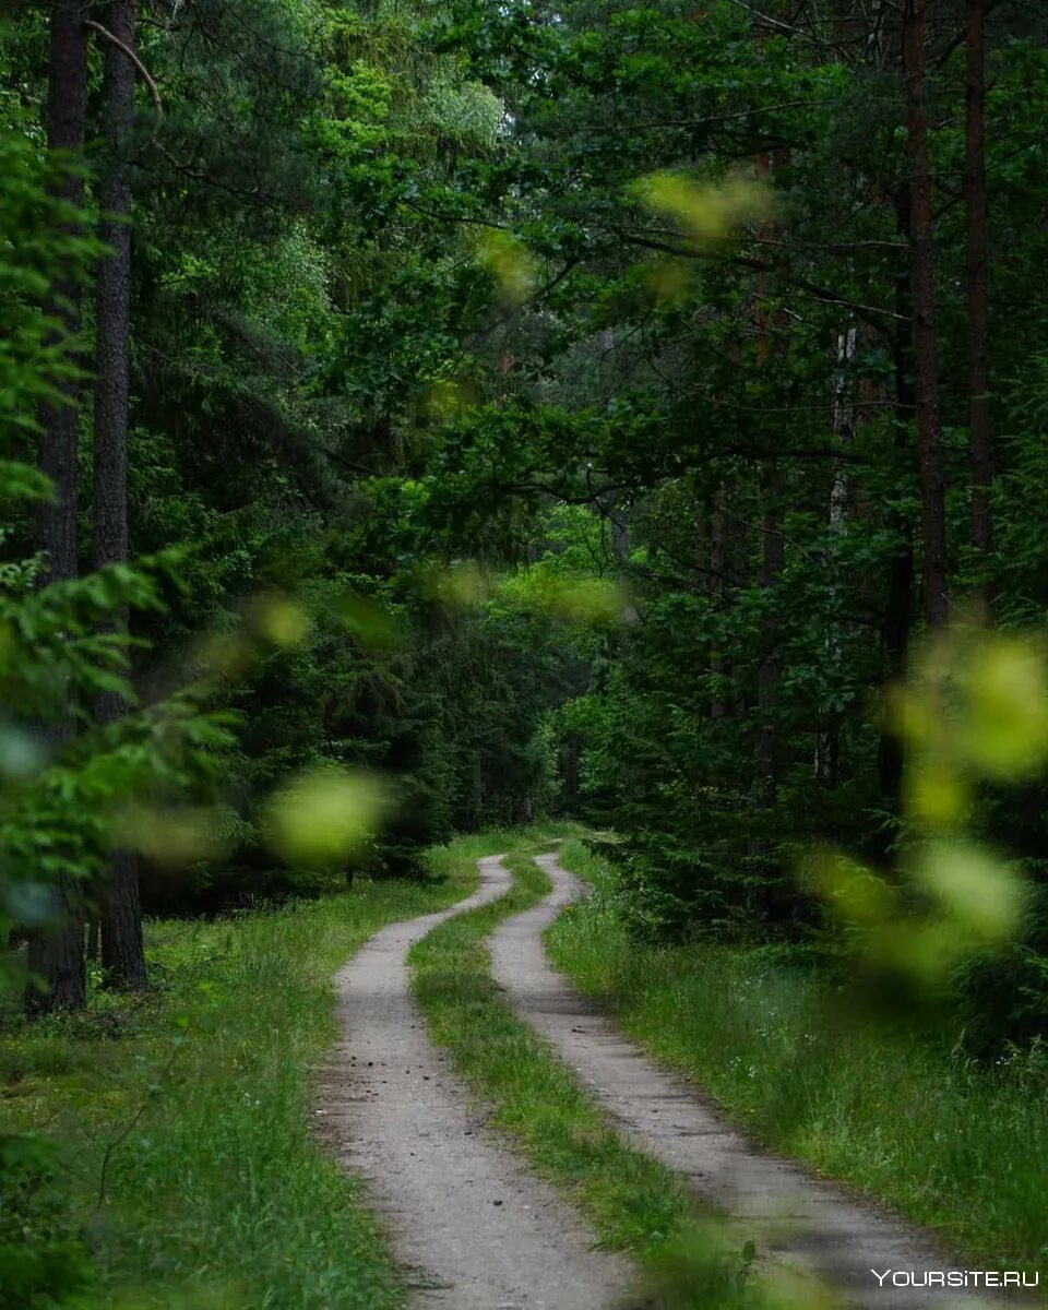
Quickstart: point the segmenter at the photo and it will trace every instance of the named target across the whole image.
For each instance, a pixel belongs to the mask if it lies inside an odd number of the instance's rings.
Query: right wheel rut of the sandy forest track
[[[758,1248],[815,1269],[862,1310],[947,1310],[1005,1303],[973,1290],[884,1286],[870,1272],[956,1265],[904,1221],[811,1179],[799,1166],[755,1148],[696,1089],[618,1034],[549,963],[542,933],[583,895],[557,855],[538,855],[553,892],[506,920],[491,938],[496,982],[524,1022],[579,1076],[637,1149],[685,1175],[693,1189],[745,1225]]]

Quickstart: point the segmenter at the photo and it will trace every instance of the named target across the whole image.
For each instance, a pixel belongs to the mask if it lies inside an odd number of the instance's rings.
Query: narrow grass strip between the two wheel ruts
[[[575,1076],[504,1005],[491,979],[486,938],[502,920],[550,891],[532,855],[548,849],[555,832],[533,831],[504,845],[514,889],[441,924],[411,950],[413,988],[430,1035],[448,1048],[493,1127],[588,1216],[597,1244],[631,1255],[647,1273],[650,1286],[630,1305],[828,1305],[810,1282],[793,1282],[787,1271],[761,1269],[757,1276],[755,1252],[743,1237],[714,1214],[700,1213],[676,1174],[629,1146]],[[452,846],[444,858],[464,865],[476,857]]]

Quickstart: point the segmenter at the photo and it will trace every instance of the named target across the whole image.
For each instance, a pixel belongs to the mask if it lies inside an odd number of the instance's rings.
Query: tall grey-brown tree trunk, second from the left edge
[[[135,0],[110,0],[106,28],[135,48]],[[128,325],[131,301],[131,177],[128,149],[135,126],[135,67],[105,42],[102,113],[106,166],[102,176],[102,240],[113,249],[98,269],[97,367],[94,392],[94,566],[127,562],[127,417]],[[127,613],[111,630],[126,630]],[[98,697],[96,718],[114,723],[126,711],[123,698]],[[101,888],[102,965],[117,986],[145,985],[138,863],[117,852]]]

